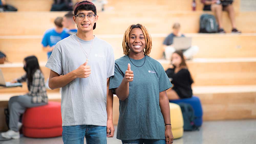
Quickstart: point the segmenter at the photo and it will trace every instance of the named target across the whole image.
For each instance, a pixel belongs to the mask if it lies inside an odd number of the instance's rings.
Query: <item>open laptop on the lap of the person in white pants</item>
[[[191,37],[174,37],[173,47],[176,50],[185,50],[191,47],[192,38]]]

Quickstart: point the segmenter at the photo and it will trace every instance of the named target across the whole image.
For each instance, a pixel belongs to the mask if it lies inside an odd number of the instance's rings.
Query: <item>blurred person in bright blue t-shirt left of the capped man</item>
[[[61,40],[61,35],[65,33],[62,26],[62,17],[57,17],[54,24],[55,28],[48,29],[42,39],[43,50],[47,52],[48,59],[56,43]]]

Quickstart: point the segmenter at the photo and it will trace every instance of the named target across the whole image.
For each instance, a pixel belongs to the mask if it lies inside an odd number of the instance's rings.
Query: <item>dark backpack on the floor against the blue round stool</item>
[[[195,113],[193,107],[188,103],[177,103],[182,111],[183,120],[184,120],[184,130],[199,130],[199,127],[194,124]]]

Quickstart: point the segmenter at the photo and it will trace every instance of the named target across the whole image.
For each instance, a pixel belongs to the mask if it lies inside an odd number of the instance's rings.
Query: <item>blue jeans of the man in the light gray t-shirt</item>
[[[106,144],[106,126],[77,125],[63,126],[62,140],[64,144],[84,144],[84,137],[87,144]]]

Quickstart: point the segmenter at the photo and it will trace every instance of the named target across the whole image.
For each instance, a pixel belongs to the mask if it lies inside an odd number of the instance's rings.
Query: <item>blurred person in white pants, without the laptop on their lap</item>
[[[170,60],[172,53],[175,52],[175,48],[173,47],[173,38],[174,37],[185,37],[185,35],[180,33],[180,24],[174,23],[173,32],[169,34],[164,42],[164,51],[165,51],[165,59]],[[192,46],[188,49],[182,50],[186,59],[192,59],[193,56],[198,52],[199,48],[197,46]]]

